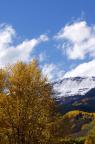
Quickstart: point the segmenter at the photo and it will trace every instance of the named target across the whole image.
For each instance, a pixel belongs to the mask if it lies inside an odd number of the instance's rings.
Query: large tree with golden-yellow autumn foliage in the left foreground
[[[52,86],[38,62],[18,62],[0,71],[0,140],[7,144],[47,144],[52,140]]]

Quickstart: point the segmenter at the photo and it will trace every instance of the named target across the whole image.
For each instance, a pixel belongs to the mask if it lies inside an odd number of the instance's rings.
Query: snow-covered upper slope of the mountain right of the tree
[[[63,78],[54,83],[54,90],[58,98],[85,95],[93,88],[95,88],[95,77]]]

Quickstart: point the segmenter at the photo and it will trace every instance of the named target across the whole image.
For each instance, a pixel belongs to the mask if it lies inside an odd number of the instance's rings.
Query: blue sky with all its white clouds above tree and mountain
[[[0,67],[33,58],[50,81],[95,76],[95,0],[0,0]]]

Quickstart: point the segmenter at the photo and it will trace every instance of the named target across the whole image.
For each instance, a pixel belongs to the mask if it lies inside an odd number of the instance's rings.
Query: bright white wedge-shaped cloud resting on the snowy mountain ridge
[[[95,76],[95,60],[78,65],[76,68],[65,73],[66,77],[92,77]]]

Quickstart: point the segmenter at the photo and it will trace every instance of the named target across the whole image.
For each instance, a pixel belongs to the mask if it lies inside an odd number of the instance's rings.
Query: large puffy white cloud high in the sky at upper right
[[[84,59],[86,55],[95,57],[95,25],[74,22],[62,28],[56,39],[63,42],[60,48],[70,59]]]

